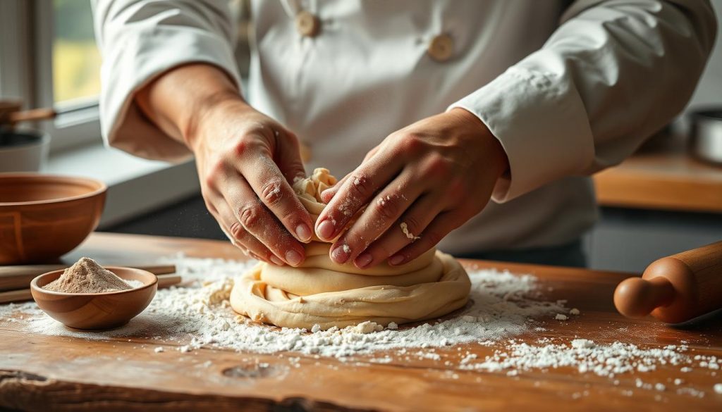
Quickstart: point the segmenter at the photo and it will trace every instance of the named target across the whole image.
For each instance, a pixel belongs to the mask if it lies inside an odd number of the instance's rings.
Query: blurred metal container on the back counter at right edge
[[[722,165],[722,108],[696,110],[692,120],[692,154],[705,162]]]

